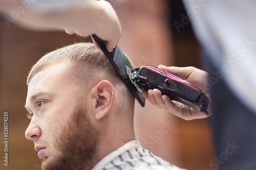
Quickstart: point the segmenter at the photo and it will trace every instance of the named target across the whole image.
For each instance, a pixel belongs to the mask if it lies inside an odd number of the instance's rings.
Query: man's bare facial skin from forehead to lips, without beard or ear
[[[75,86],[69,83],[65,79],[65,75],[62,74],[65,67],[62,65],[51,68],[40,71],[31,80],[26,100],[26,108],[33,116],[25,136],[34,141],[35,147],[46,148],[44,154],[38,156],[47,161],[53,159],[57,153],[53,140],[54,134],[61,132],[62,129],[58,127],[64,127],[76,106],[74,96],[76,92],[72,90],[75,89]],[[47,75],[48,70],[52,70],[52,72]],[[41,75],[44,74],[47,77],[42,80]],[[63,82],[65,86],[60,84],[61,80],[66,80]],[[58,121],[56,122],[56,120]],[[58,155],[56,154],[56,156]]]

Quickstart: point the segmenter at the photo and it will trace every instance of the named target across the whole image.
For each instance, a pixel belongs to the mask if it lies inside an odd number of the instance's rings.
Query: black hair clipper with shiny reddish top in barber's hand
[[[131,82],[138,91],[159,89],[162,94],[168,95],[171,100],[204,112],[206,115],[209,100],[200,88],[163,71],[157,67],[144,65],[131,70],[126,67]]]

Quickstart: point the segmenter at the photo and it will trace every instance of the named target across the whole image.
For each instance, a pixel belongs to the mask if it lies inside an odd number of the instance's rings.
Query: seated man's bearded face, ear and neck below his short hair
[[[90,169],[106,155],[135,139],[133,111],[119,110],[118,103],[114,102],[115,87],[109,81],[99,80],[81,91],[72,79],[70,65],[62,63],[38,72],[28,85],[26,108],[31,122],[25,136],[34,141],[39,158],[44,159],[42,167],[61,167],[59,162],[74,157],[80,147],[87,156],[78,154],[74,159],[79,161],[71,160],[66,168],[79,164],[82,166],[76,166],[77,169]],[[131,116],[125,117],[120,112]],[[78,117],[84,117],[86,124],[74,124],[77,113]],[[79,133],[75,135],[77,129]],[[80,142],[74,143],[78,140]],[[87,159],[82,159],[84,157]]]

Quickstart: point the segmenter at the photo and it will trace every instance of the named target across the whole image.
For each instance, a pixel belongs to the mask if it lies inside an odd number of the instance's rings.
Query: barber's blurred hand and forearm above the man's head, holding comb
[[[106,40],[109,52],[118,44],[121,37],[121,25],[111,4],[106,1],[88,1],[85,5],[77,5],[69,10],[47,14],[36,13],[30,8],[26,9],[19,17],[11,17],[12,10],[17,9],[18,0],[0,0],[0,12],[12,19],[21,27],[41,31],[65,31],[68,34],[77,34],[88,37],[96,34]],[[97,44],[95,44],[97,46]],[[97,46],[98,47],[98,46]]]

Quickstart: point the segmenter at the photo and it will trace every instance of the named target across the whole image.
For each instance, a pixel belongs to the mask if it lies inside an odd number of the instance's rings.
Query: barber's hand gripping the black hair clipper
[[[166,67],[159,65],[158,68],[170,72],[171,74],[201,88],[204,90],[206,96],[210,99],[209,91],[207,91],[204,86],[208,80],[207,72],[195,67]],[[162,95],[161,91],[158,89],[150,89],[147,92],[144,91],[142,96],[156,107],[164,109],[186,120],[208,117],[206,114],[197,109],[170,100],[167,95]],[[211,115],[210,104],[207,110],[209,115]]]

